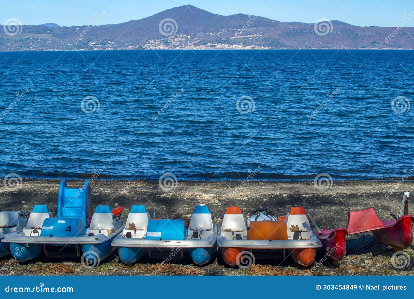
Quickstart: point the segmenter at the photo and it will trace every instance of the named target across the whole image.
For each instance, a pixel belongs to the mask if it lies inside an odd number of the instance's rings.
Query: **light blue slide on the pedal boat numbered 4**
[[[87,225],[86,218],[92,218],[91,186],[86,179],[81,189],[67,188],[65,180],[60,182],[58,196],[58,218],[79,218]]]

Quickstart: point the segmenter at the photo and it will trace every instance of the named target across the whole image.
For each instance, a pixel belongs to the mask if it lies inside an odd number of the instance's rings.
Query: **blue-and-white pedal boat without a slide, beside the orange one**
[[[118,247],[120,260],[136,263],[148,252],[149,258],[183,258],[188,250],[193,263],[210,261],[217,238],[214,213],[207,206],[196,206],[190,219],[151,219],[145,206],[132,206],[122,234],[112,246]]]

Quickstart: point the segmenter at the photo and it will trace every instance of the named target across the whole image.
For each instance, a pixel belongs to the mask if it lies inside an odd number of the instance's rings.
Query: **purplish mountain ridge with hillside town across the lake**
[[[183,5],[121,24],[99,25],[99,15],[84,26],[24,25],[12,34],[0,26],[0,50],[414,48],[413,27],[279,22],[260,14],[222,16]]]

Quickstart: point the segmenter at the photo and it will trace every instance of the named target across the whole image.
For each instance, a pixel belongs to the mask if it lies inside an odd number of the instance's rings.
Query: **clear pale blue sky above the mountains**
[[[255,14],[282,22],[340,20],[358,26],[396,27],[414,11],[414,0],[0,0],[0,24],[10,18],[22,24],[90,24],[103,10],[101,24],[142,19],[171,7],[191,4],[216,14]],[[412,24],[411,24],[412,23]],[[414,26],[412,19],[407,26]]]

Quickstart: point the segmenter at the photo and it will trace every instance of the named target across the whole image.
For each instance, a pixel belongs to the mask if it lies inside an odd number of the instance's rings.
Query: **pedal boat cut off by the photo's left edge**
[[[29,213],[22,212],[0,212],[0,258],[10,254],[10,245],[1,240],[11,233],[21,233],[27,225]]]

